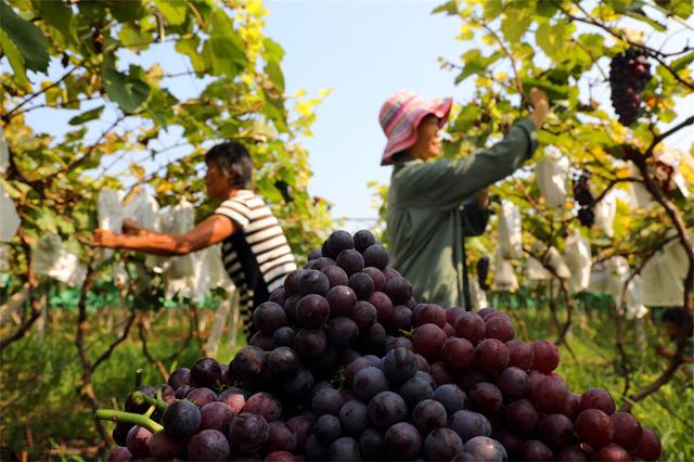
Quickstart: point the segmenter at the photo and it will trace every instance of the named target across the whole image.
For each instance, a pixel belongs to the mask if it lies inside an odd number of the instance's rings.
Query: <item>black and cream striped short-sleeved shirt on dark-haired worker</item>
[[[236,227],[236,232],[222,242],[221,257],[240,293],[241,317],[249,333],[254,307],[267,301],[286,274],[296,269],[294,254],[260,195],[241,190],[222,202],[215,214],[230,218]]]

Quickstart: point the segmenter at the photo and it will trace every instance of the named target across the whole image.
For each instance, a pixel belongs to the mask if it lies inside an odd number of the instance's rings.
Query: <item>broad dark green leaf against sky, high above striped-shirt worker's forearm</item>
[[[126,113],[134,112],[150,94],[140,66],[130,65],[129,74],[124,74],[115,68],[114,57],[110,56],[104,59],[101,75],[108,98]]]

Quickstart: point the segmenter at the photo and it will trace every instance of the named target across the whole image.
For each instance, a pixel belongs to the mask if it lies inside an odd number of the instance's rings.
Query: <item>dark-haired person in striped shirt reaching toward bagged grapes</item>
[[[222,260],[241,295],[246,332],[253,308],[268,300],[284,277],[296,269],[294,254],[277,217],[250,190],[253,161],[237,142],[226,142],[205,155],[207,194],[221,201],[210,217],[185,234],[166,234],[126,220],[124,234],[94,231],[97,247],[125,248],[175,256],[222,243]]]

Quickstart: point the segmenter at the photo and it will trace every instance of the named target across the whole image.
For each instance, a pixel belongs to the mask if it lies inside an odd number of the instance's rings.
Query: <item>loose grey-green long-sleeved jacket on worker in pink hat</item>
[[[537,146],[535,124],[524,119],[491,149],[460,159],[395,162],[386,213],[390,261],[412,283],[417,303],[463,306],[463,238],[481,232],[474,218],[479,210],[464,205],[518,169]]]

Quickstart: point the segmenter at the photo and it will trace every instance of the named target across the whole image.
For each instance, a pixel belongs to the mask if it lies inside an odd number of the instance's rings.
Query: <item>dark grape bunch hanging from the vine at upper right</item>
[[[639,118],[641,91],[652,77],[651,64],[641,49],[630,48],[613,57],[609,67],[612,105],[625,127]]]

